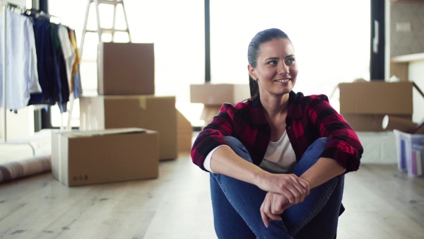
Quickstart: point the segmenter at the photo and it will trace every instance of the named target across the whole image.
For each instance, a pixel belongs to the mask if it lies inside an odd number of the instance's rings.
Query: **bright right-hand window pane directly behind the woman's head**
[[[211,81],[248,83],[247,47],[280,28],[295,47],[296,92],[331,95],[340,82],[369,79],[370,1],[211,1]],[[338,108],[338,97],[331,100]]]

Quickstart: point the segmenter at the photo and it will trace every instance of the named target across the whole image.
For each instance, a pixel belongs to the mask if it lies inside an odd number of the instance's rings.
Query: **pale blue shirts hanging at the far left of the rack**
[[[41,93],[37,69],[35,34],[30,19],[6,9],[6,62],[0,58],[0,106],[3,103],[3,64],[6,64],[6,107],[18,110],[28,105],[31,93]],[[0,13],[2,18],[4,13]],[[4,23],[0,21],[0,36]],[[0,37],[3,45],[3,37]],[[0,47],[3,55],[3,47]]]

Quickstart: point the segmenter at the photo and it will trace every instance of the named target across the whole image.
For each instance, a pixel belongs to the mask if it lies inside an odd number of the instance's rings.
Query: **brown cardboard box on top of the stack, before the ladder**
[[[100,95],[153,95],[153,43],[100,42],[98,45]]]

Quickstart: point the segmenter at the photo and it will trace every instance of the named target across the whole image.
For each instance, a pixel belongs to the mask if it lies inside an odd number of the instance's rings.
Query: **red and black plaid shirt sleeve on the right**
[[[346,168],[346,173],[358,170],[363,153],[363,146],[360,144],[358,135],[331,107],[326,95],[311,95],[311,99],[307,113],[314,129],[320,136],[332,139],[324,148],[321,157],[338,161]]]

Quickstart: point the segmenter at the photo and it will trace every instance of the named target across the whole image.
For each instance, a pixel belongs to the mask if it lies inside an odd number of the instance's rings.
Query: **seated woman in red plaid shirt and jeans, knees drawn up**
[[[293,92],[298,66],[283,31],[257,33],[248,60],[252,98],[223,104],[192,148],[211,174],[218,238],[334,238],[358,136],[326,95]]]

